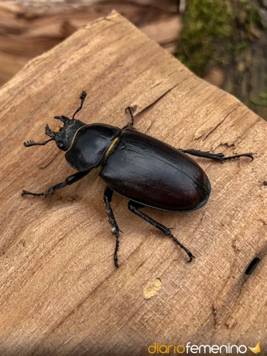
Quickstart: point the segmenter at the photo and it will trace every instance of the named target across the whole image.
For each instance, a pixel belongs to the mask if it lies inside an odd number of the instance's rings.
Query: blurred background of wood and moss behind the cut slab
[[[267,120],[267,0],[0,0],[0,87],[113,9]]]

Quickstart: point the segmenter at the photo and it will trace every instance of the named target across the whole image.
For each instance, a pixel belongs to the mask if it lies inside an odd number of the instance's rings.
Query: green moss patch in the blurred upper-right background
[[[206,64],[229,66],[248,47],[261,16],[248,0],[188,0],[177,58],[199,76]],[[241,30],[241,31],[240,31]]]

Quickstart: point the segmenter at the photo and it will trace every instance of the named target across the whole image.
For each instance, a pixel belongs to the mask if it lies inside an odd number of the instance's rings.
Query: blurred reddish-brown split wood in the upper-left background
[[[176,0],[0,1],[0,86],[29,60],[61,43],[86,23],[116,9],[167,51],[176,51]]]

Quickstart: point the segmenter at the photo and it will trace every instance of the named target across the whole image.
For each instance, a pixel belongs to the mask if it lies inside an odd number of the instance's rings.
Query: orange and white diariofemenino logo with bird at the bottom
[[[254,354],[257,354],[258,352],[261,352],[261,347],[260,347],[261,341],[258,341],[257,345],[255,347],[248,346],[246,345],[192,345],[192,342],[187,342],[187,345],[159,345],[158,342],[155,342],[155,344],[150,345],[148,347],[148,352],[150,354],[169,354],[169,355],[178,355],[178,354],[200,354],[204,352],[205,354],[220,354],[221,352],[226,352],[226,354],[245,354],[246,352],[249,352],[248,350],[251,350]],[[251,354],[251,352],[249,352]]]

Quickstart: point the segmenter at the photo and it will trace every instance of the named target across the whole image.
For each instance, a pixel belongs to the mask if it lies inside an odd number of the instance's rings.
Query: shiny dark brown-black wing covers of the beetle
[[[199,209],[211,192],[208,177],[194,159],[130,128],[122,131],[100,177],[123,197],[168,211]]]

